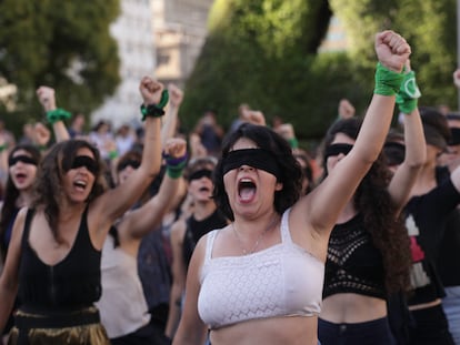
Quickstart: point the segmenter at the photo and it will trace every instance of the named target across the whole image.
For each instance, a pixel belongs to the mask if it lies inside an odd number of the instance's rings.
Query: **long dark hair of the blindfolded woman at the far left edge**
[[[40,162],[41,155],[40,151],[29,144],[18,144],[16,145],[10,153],[8,154],[8,161],[12,158],[12,155],[20,151],[27,151],[30,156],[37,162]],[[3,241],[3,236],[8,230],[8,226],[11,222],[12,216],[17,212],[16,202],[19,197],[19,190],[16,187],[10,174],[8,173],[8,179],[4,187],[4,197],[3,197],[3,205],[1,207],[1,214],[0,214],[0,252],[4,260],[7,256],[7,244]]]

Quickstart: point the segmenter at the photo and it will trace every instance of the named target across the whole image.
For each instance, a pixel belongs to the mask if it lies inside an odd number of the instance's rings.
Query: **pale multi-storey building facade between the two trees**
[[[91,114],[113,128],[139,125],[139,81],[152,75],[183,88],[207,37],[213,0],[121,0],[110,31],[118,42],[121,82],[116,93]]]

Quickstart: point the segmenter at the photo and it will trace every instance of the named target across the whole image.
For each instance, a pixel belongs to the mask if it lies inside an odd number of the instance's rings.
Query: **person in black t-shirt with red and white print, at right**
[[[420,108],[427,144],[427,161],[417,176],[410,200],[404,207],[406,227],[411,240],[411,291],[408,305],[414,326],[411,344],[454,344],[442,298],[446,290],[437,267],[440,255],[447,255],[447,267],[453,267],[457,254],[441,253],[442,239],[448,232],[449,215],[460,202],[460,169],[440,174],[438,158],[446,151],[450,130],[436,108]],[[458,232],[458,226],[456,229]],[[452,243],[454,245],[454,243]],[[457,248],[458,251],[458,248]],[[454,272],[449,272],[458,277]]]

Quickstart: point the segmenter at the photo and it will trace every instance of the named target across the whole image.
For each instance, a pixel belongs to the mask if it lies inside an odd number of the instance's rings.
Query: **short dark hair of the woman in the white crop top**
[[[271,152],[276,159],[281,171],[281,176],[278,182],[281,182],[283,187],[281,191],[274,193],[274,210],[279,214],[282,214],[300,197],[302,190],[302,170],[292,154],[291,146],[283,138],[266,126],[250,123],[241,124],[226,138],[222,144],[222,156],[214,170],[214,190],[212,193],[217,205],[229,220],[234,220],[233,211],[230,207],[223,185],[222,158],[228,155],[230,149],[240,138],[247,138],[253,141],[260,149]]]

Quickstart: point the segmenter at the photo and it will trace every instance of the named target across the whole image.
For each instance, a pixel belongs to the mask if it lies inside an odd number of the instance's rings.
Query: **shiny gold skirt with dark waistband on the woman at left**
[[[8,345],[109,345],[99,312],[90,307],[52,316],[18,311]]]

